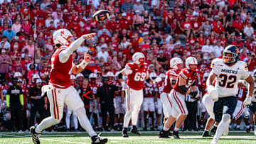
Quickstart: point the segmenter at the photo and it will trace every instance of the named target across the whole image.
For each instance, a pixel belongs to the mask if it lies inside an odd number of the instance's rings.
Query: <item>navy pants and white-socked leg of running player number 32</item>
[[[217,128],[217,131],[213,137],[212,143],[217,143],[220,136],[223,135],[223,133],[225,131],[227,131],[229,123],[230,123],[230,118],[233,116],[233,113],[235,111],[235,106],[238,102],[238,99],[236,99],[235,96],[229,96],[229,97],[225,97],[225,98],[220,98],[218,101],[223,101],[223,116],[222,116],[220,124]],[[214,104],[214,109],[216,106],[217,105]],[[217,119],[216,119],[216,121],[217,121]]]

